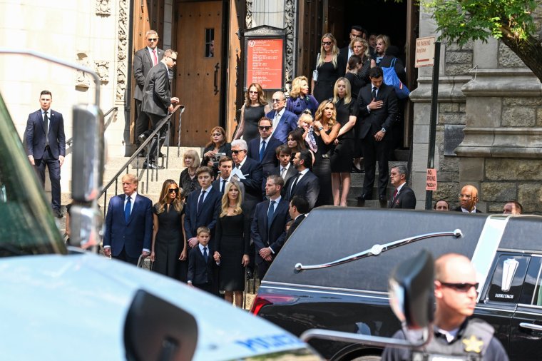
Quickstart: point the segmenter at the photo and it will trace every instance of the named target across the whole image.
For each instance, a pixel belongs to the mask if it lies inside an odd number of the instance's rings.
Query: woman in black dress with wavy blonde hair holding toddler
[[[332,205],[331,155],[334,141],[339,134],[341,125],[337,123],[337,112],[332,101],[322,101],[316,111],[315,121],[312,122],[312,133],[315,138],[315,164],[312,173],[320,181],[320,193],[315,207]],[[310,136],[309,136],[310,138]]]

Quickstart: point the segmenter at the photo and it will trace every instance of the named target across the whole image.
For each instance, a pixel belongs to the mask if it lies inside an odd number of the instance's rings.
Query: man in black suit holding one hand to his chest
[[[361,121],[359,139],[362,142],[365,167],[363,193],[358,199],[372,198],[375,168],[378,161],[379,200],[385,202],[389,171],[389,139],[386,132],[397,118],[397,96],[395,96],[393,86],[384,84],[382,68],[378,66],[371,68],[369,78],[371,84],[362,88],[357,98],[359,103],[358,121]]]

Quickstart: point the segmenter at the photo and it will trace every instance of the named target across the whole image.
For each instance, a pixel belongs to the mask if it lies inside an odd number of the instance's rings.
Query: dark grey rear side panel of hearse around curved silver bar
[[[487,215],[411,210],[316,208],[303,220],[271,264],[265,281],[387,292],[388,276],[401,260],[429,250],[436,258],[461,253],[471,258]],[[428,238],[332,268],[295,271],[295,264],[328,263],[375,244],[461,229],[462,238]]]

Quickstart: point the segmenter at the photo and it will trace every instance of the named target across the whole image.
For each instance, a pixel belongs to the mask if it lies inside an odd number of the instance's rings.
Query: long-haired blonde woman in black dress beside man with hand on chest
[[[357,120],[357,99],[352,98],[347,78],[339,78],[335,83],[333,103],[337,111],[337,122],[341,125],[331,157],[333,205],[346,207],[354,158],[354,126]]]

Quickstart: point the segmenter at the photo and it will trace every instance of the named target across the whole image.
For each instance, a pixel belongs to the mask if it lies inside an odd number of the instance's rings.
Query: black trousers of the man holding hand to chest
[[[375,141],[374,134],[368,133],[362,139],[363,163],[365,167],[365,177],[363,180],[363,194],[372,195],[374,185],[374,176],[376,163],[378,161],[378,195],[386,197],[389,170],[388,170],[388,148],[389,139],[387,134],[382,141]]]

